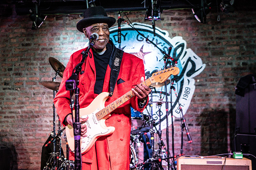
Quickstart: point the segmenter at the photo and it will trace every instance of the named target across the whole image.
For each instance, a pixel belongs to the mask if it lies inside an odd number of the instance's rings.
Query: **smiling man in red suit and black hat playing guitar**
[[[90,49],[91,55],[82,65],[84,73],[79,75],[79,104],[80,108],[87,107],[101,92],[110,92],[110,71],[116,47],[109,40],[108,28],[113,26],[116,19],[108,17],[106,11],[98,7],[90,7],[84,12],[84,19],[80,20],[76,27],[78,31],[90,38],[92,33],[98,33],[99,38]],[[69,91],[66,91],[65,82],[71,76],[75,66],[81,61],[81,52],[76,51],[70,56],[67,67],[63,73],[60,88],[54,99],[60,121],[64,126],[72,126],[72,115],[69,102]],[[117,64],[118,65],[118,64]],[[99,137],[92,148],[82,155],[83,170],[119,170],[129,169],[130,162],[130,132],[131,109],[142,112],[148,103],[148,94],[151,89],[142,85],[145,79],[143,61],[131,54],[124,53],[117,77],[113,96],[105,102],[105,106],[115,101],[132,89],[135,94],[120,107],[111,112],[111,116],[105,121],[107,126],[115,127],[115,131],[108,136]],[[134,90],[136,89],[136,90]],[[80,122],[88,118],[80,118]],[[81,136],[86,137],[87,126],[81,126]],[[70,152],[70,159],[74,160],[74,153]]]

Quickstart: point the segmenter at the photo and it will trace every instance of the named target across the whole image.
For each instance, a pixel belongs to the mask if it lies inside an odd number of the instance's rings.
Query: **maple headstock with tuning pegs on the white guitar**
[[[180,72],[180,69],[178,67],[170,67],[165,70],[158,71],[156,73],[153,73],[150,77],[151,83],[163,83],[167,80],[171,75],[178,75]]]

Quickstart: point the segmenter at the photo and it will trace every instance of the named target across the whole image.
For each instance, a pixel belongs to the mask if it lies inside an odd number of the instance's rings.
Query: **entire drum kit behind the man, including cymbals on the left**
[[[55,79],[57,75],[59,75],[61,78],[63,77],[63,72],[65,70],[65,67],[62,63],[60,63],[57,59],[53,57],[49,57],[49,63],[52,66],[53,70],[55,71],[55,76],[52,78],[52,81],[43,81],[41,82],[41,85],[44,87],[51,89],[53,91],[53,99],[55,98],[56,92],[59,90],[60,82],[55,82]],[[169,84],[170,80],[167,79],[166,83]],[[164,86],[164,83],[153,83],[150,88],[155,89],[158,87]],[[152,101],[153,95],[151,92],[151,101],[149,101],[149,106],[151,107],[153,103],[156,103],[156,106],[159,108],[159,118],[161,122],[161,106],[165,101],[159,100],[159,101]],[[74,101],[74,100],[73,100]],[[74,104],[74,103],[72,103]],[[132,125],[131,125],[131,140],[130,140],[130,169],[143,169],[146,164],[150,165],[150,169],[163,169],[162,162],[159,161],[159,159],[167,158],[167,149],[164,146],[164,142],[161,139],[161,126],[159,126],[159,129],[156,129],[155,126],[155,120],[152,117],[152,114],[148,113],[148,115],[142,114],[136,110],[134,110],[131,107],[131,118],[132,118]],[[53,104],[53,130],[51,133],[52,140],[49,143],[53,142],[53,151],[50,154],[50,157],[48,158],[48,161],[46,162],[46,165],[44,166],[44,170],[71,170],[74,169],[74,161],[68,160],[69,155],[69,147],[68,144],[66,145],[67,150],[67,158],[64,157],[64,154],[61,153],[61,132],[65,129],[60,129],[60,121],[58,124],[58,134],[55,133],[55,107]],[[158,149],[154,149],[154,134],[158,135]],[[66,140],[66,137],[64,135],[63,137]],[[144,139],[144,140],[143,140]],[[67,142],[67,140],[66,140]],[[136,149],[140,147],[140,142],[144,142],[148,148],[148,157],[145,162],[142,164],[138,164],[138,155],[136,152]],[[47,147],[47,144],[44,145]],[[162,149],[164,148],[164,149]]]

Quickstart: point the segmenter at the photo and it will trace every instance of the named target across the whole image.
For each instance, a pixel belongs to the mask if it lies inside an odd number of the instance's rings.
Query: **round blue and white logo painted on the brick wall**
[[[190,48],[186,48],[186,41],[182,37],[169,36],[167,31],[161,30],[156,27],[156,36],[153,35],[153,30],[151,25],[142,23],[133,23],[134,27],[140,31],[145,37],[153,41],[159,48],[168,53],[168,48],[171,47],[170,56],[172,56],[176,61],[178,61],[177,67],[180,69],[180,73],[177,76],[172,76],[176,78],[177,83],[174,83],[174,87],[178,92],[178,99],[172,91],[172,101],[173,101],[173,115],[176,118],[180,118],[180,111],[178,109],[178,100],[181,104],[183,114],[188,110],[190,101],[192,99],[193,93],[195,91],[195,80],[194,77],[202,72],[205,68],[205,64],[202,63],[201,58],[199,58]],[[141,58],[145,66],[146,79],[151,77],[151,75],[164,67],[164,61],[162,53],[154,47],[151,43],[146,41],[140,34],[134,31],[128,25],[121,25],[121,44],[117,43],[117,26],[111,27],[110,40],[116,45],[116,47],[123,49],[127,53],[131,53]],[[160,61],[159,61],[160,60]],[[170,81],[169,81],[170,82]],[[154,90],[153,90],[154,92]],[[165,101],[164,96],[164,86],[156,88],[157,94],[153,93],[153,102],[158,100]],[[167,85],[168,100],[170,101],[170,84]],[[153,103],[153,117],[156,120],[156,125],[159,124],[158,108]],[[149,106],[148,106],[149,107]],[[147,114],[145,109],[144,114]],[[168,124],[171,125],[171,105],[169,103],[169,113],[168,113]],[[166,128],[166,111],[165,104],[161,107],[161,128]]]

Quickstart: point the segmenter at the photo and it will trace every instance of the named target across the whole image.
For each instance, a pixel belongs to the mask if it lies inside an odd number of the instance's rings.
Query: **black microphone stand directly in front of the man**
[[[90,40],[89,40],[90,41]],[[75,139],[75,169],[81,170],[82,169],[82,155],[81,155],[81,149],[80,149],[80,139],[81,139],[81,123],[79,122],[79,88],[77,87],[79,83],[79,74],[83,74],[84,71],[82,70],[82,65],[84,61],[86,60],[89,50],[94,45],[93,40],[91,43],[89,43],[89,46],[86,51],[82,51],[82,60],[80,63],[76,65],[74,68],[72,75],[66,83],[66,90],[69,90],[70,94],[74,90],[75,91],[75,122],[73,122],[73,128],[74,128],[74,139]],[[71,100],[71,99],[70,99]],[[73,113],[73,110],[71,110],[71,113]],[[72,121],[73,121],[73,114],[72,115]]]

